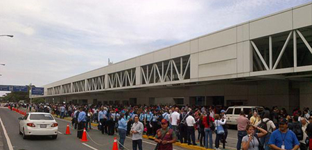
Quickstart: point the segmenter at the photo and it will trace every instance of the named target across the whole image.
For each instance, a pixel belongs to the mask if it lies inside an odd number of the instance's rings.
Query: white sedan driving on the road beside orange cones
[[[50,113],[26,113],[19,118],[19,134],[26,139],[29,135],[51,135],[58,138],[58,122]]]

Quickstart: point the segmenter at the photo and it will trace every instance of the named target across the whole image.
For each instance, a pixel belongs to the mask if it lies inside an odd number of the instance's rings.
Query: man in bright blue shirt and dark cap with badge
[[[274,150],[297,150],[300,145],[295,133],[288,130],[288,121],[286,119],[279,122],[279,129],[272,132],[268,144]]]

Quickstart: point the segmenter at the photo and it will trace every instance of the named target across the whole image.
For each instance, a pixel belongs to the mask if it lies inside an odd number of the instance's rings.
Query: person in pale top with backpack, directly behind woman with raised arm
[[[261,129],[264,129],[268,131],[268,134],[266,136],[263,136],[260,138],[260,142],[263,144],[263,147],[265,150],[269,150],[270,147],[268,145],[268,142],[270,140],[270,135],[273,131],[275,131],[276,126],[272,120],[270,120],[270,113],[269,111],[266,111],[263,115],[260,116],[261,120],[258,122],[256,126],[258,126]]]

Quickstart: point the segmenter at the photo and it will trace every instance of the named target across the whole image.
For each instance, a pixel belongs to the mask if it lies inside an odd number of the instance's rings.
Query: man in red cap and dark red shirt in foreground
[[[158,129],[155,135],[158,150],[173,150],[173,143],[176,142],[176,135],[173,129],[168,128],[168,121],[162,119],[162,128]]]

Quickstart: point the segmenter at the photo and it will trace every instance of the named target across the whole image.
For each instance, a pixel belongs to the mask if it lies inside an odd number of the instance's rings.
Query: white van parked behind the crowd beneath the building
[[[264,111],[264,108],[262,106],[229,106],[226,111],[227,124],[237,125],[236,118],[239,118],[241,111],[244,111],[247,117],[250,111],[257,111],[259,114]]]

